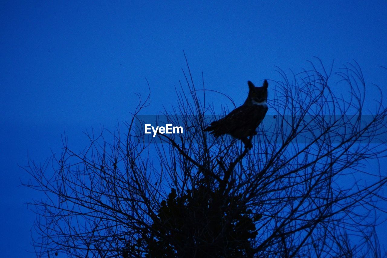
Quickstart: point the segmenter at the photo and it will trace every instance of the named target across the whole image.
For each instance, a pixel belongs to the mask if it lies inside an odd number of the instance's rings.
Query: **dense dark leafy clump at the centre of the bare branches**
[[[260,217],[247,210],[241,195],[224,196],[201,185],[178,197],[172,188],[161,201],[152,231],[135,246],[145,247],[146,257],[252,256],[250,241],[257,236],[254,223]]]

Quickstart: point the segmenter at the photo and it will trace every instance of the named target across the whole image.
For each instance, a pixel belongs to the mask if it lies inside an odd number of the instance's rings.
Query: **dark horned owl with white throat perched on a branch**
[[[228,115],[214,121],[203,131],[209,131],[215,137],[229,134],[233,138],[240,139],[245,148],[251,149],[251,139],[257,132],[255,129],[264,119],[267,112],[267,87],[265,80],[262,87],[255,87],[251,81],[248,84],[248,96],[240,107],[235,108]]]

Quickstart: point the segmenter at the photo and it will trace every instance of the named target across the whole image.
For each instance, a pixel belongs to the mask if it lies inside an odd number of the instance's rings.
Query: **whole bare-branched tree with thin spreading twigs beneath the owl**
[[[369,164],[385,158],[387,110],[380,99],[367,114],[365,93],[378,88],[357,64],[334,74],[344,96],[330,86],[332,69],[317,64],[290,78],[279,69],[281,79],[269,81],[251,150],[202,131],[215,108],[188,64],[173,114],[163,113],[184,134],[149,143],[134,133],[148,95],[125,132],[91,133],[80,153],[63,138],[60,157],[25,167],[25,185],[47,197],[32,203],[36,254],[381,257],[375,226],[387,177]]]

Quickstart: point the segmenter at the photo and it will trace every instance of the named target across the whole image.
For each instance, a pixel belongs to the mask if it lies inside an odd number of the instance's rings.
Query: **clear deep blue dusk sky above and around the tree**
[[[110,2],[110,3],[108,3]],[[82,131],[114,129],[147,93],[156,114],[176,104],[183,50],[198,84],[243,103],[247,80],[279,79],[320,57],[356,60],[387,96],[386,1],[0,1],[0,246],[33,257],[36,195],[20,180],[27,153],[43,163],[61,134],[82,148]],[[269,93],[270,94],[270,93]],[[370,92],[371,96],[374,94]],[[213,95],[215,107],[225,103]],[[377,97],[377,96],[375,96]],[[270,95],[269,95],[270,99]],[[383,239],[382,239],[383,241]]]

